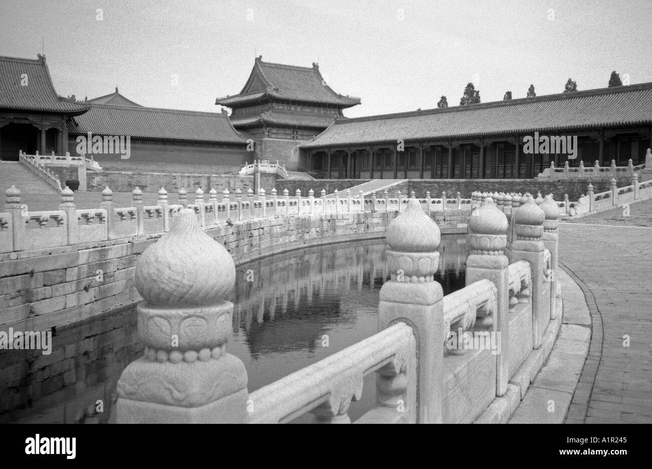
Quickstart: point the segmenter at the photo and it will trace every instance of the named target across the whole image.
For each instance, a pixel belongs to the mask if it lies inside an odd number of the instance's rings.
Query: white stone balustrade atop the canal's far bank
[[[37,168],[38,171],[45,172],[42,166],[38,166],[31,160],[26,164]],[[57,179],[58,181],[58,179]],[[46,237],[42,239],[43,245],[38,242],[32,242],[26,237],[33,235],[32,232],[25,231],[27,228],[22,222],[22,217],[31,217],[31,212],[25,210],[20,201],[20,190],[12,186],[5,192],[7,196],[7,205],[5,212],[0,213],[0,227],[3,223],[10,224],[12,230],[7,233],[1,232],[0,235],[0,252],[12,252],[27,249],[40,249],[48,247],[45,243]],[[222,202],[217,201],[217,192],[215,189],[209,193],[209,200],[205,199],[205,194],[201,189],[196,190],[194,203],[188,202],[188,194],[185,189],[179,189],[179,204],[168,203],[168,192],[165,189],[158,191],[158,204],[143,205],[142,192],[136,187],[132,191],[133,205],[129,207],[115,207],[113,204],[113,192],[106,187],[102,191],[103,201],[98,209],[88,209],[85,211],[76,211],[74,205],[74,194],[68,187],[61,190],[61,197],[65,202],[67,217],[61,223],[65,225],[67,232],[67,241],[63,244],[57,237],[57,246],[59,245],[76,245],[78,243],[87,243],[95,241],[108,241],[111,239],[123,239],[133,237],[156,236],[168,232],[170,221],[175,217],[183,207],[192,209],[200,222],[200,226],[208,230],[216,226],[224,226],[233,222],[246,220],[263,220],[278,219],[282,217],[304,217],[315,216],[328,213],[357,213],[357,212],[391,212],[404,211],[408,202],[407,198],[378,198],[372,194],[370,198],[364,196],[353,196],[351,191],[347,191],[343,196],[326,198],[325,191],[322,190],[321,197],[315,198],[313,191],[310,190],[308,197],[301,196],[301,191],[297,190],[295,196],[289,196],[288,190],[284,190],[282,196],[277,196],[276,190],[272,190],[271,198],[267,198],[265,190],[261,190],[258,199],[254,199],[254,194],[249,191],[246,198],[243,199],[240,189],[231,193],[228,189],[222,192]],[[14,202],[8,202],[9,199]],[[462,199],[459,194],[457,198],[449,200],[445,204],[443,199],[430,198],[430,194],[424,199],[418,199],[428,213],[431,211],[450,211],[450,210],[471,210],[471,200]],[[447,206],[448,205],[448,206]],[[7,209],[10,207],[10,210]],[[63,207],[63,204],[60,205]],[[89,213],[106,213],[106,218],[95,220],[89,219]],[[72,220],[78,220],[84,217],[84,224],[74,223]],[[11,219],[11,220],[9,220]],[[89,220],[95,220],[97,226],[90,228]],[[69,222],[70,221],[70,222]],[[80,228],[81,227],[81,228]],[[82,233],[83,231],[83,233]],[[47,230],[39,232],[39,235],[46,234]]]

